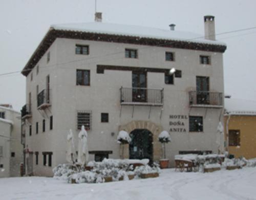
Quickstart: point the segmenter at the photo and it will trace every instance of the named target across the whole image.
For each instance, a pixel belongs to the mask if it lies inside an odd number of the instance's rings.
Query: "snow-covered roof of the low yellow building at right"
[[[225,113],[228,115],[256,116],[256,101],[225,98]]]

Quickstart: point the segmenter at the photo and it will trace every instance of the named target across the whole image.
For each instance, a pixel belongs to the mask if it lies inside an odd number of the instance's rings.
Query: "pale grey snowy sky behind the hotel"
[[[204,34],[203,16],[216,18],[216,33],[256,27],[254,0],[97,0],[103,21]],[[52,24],[94,21],[95,0],[1,0],[0,74],[21,71]],[[225,94],[256,99],[256,29],[217,36],[224,53]],[[25,104],[25,77],[0,75],[0,103]]]

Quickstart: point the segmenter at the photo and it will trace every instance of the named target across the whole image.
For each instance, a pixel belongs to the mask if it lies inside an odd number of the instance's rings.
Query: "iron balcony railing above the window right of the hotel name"
[[[189,106],[190,107],[223,107],[222,93],[209,91],[190,91]]]

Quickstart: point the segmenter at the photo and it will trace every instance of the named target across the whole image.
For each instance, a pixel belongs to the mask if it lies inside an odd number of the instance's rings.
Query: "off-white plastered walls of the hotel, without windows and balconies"
[[[90,55],[76,55],[76,44],[89,45]],[[138,59],[124,58],[125,48],[138,49]],[[188,132],[188,120],[183,120],[186,132],[170,133],[173,141],[166,145],[167,157],[170,160],[174,160],[174,155],[179,150],[218,151],[217,126],[222,109],[189,108],[188,91],[196,90],[196,76],[209,76],[210,90],[223,93],[221,53],[60,38],[54,41],[48,51],[51,51],[51,61],[46,63],[46,55],[44,55],[38,62],[39,74],[35,75],[36,68],[34,68],[33,81],[30,81],[30,74],[27,77],[27,102],[28,94],[31,92],[33,110],[32,118],[26,122],[26,144],[32,151],[39,152],[39,164],[34,165],[35,174],[52,174],[51,167],[42,166],[42,151],[53,151],[53,166],[66,162],[66,137],[69,129],[73,130],[75,138],[78,135],[77,110],[92,110],[92,130],[88,131],[89,150],[112,150],[113,154],[110,154],[110,158],[119,158],[119,144],[116,141],[119,126],[143,120],[160,124],[163,130],[169,130],[169,115],[204,117],[203,132]],[[165,51],[175,52],[174,62],[165,61]],[[200,64],[200,55],[211,56],[211,65]],[[122,108],[120,106],[119,89],[121,86],[132,87],[132,72],[105,70],[104,74],[97,74],[97,64],[166,69],[174,67],[182,70],[182,78],[175,78],[174,85],[167,85],[164,83],[163,73],[147,73],[148,88],[164,88],[164,106],[153,106],[148,118],[149,106],[135,106],[134,113],[133,106],[122,106]],[[77,69],[90,70],[90,86],[76,85]],[[46,132],[42,133],[41,123],[44,117],[36,109],[35,91],[37,84],[39,92],[45,88],[48,74],[50,74],[53,101],[50,109],[41,113],[46,119]],[[109,113],[109,123],[100,122],[101,113]],[[53,115],[53,130],[49,130],[48,117],[51,115]],[[38,135],[35,134],[37,121]],[[222,117],[221,121],[223,121]],[[32,124],[32,136],[28,136],[29,124]],[[115,135],[111,136],[111,132],[115,132]],[[158,143],[156,139],[154,142]],[[155,153],[157,160],[160,153]],[[94,159],[93,155],[90,155],[90,159]]]

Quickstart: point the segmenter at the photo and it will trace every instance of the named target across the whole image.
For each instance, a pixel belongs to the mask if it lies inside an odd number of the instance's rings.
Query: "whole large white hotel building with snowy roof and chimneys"
[[[132,143],[126,158],[162,155],[158,135],[168,130],[167,158],[223,149],[223,53],[214,16],[205,36],[170,29],[101,22],[52,26],[22,71],[27,77],[27,173],[52,175],[66,160],[66,138],[88,130],[90,160],[120,158],[119,130]],[[170,69],[175,73],[170,73]],[[77,144],[77,141],[76,141]]]

